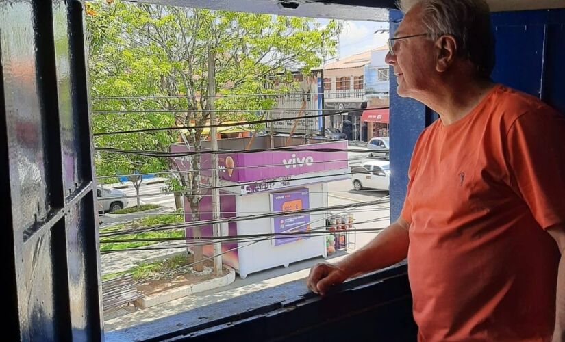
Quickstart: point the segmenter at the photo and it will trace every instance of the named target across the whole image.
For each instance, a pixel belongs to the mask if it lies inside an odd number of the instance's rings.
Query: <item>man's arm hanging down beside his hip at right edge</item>
[[[557,275],[557,299],[555,302],[557,312],[555,314],[553,341],[565,341],[565,224],[552,226],[547,230],[547,233],[555,239],[561,252],[559,274]]]

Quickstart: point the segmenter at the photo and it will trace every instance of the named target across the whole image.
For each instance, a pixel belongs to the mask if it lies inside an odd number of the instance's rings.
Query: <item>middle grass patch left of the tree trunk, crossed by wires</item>
[[[128,228],[142,228],[147,226],[156,226],[158,224],[171,224],[171,223],[181,223],[184,222],[184,217],[182,214],[179,213],[171,213],[171,214],[162,214],[162,215],[150,215],[145,218],[140,218],[138,220],[133,220],[126,224],[114,224],[113,226],[109,226],[104,228],[102,231],[104,233],[108,232],[117,232],[123,229]],[[125,240],[125,239],[162,239],[164,237],[183,237],[184,236],[184,229],[175,229],[171,231],[148,231],[144,233],[135,233],[135,234],[124,234],[124,235],[116,235],[110,237],[101,237],[100,241],[100,250],[101,252],[107,250],[123,250],[127,248],[136,248],[136,247],[143,247],[149,246],[153,244],[158,244],[160,241],[138,241],[138,242],[111,242],[111,243],[103,243],[103,241],[108,240]]]

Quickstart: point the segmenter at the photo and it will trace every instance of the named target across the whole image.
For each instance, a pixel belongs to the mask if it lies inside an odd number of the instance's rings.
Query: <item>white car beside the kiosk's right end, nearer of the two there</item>
[[[388,190],[390,184],[390,162],[373,160],[351,168],[351,181],[356,191],[364,188]]]

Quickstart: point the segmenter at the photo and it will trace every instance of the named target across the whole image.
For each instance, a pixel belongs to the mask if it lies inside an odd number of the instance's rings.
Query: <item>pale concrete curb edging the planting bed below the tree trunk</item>
[[[236,280],[236,272],[229,266],[224,265],[224,268],[229,271],[229,273],[225,276],[205,280],[203,282],[197,282],[196,284],[184,285],[177,287],[176,289],[155,293],[154,295],[146,295],[144,298],[136,300],[134,304],[138,308],[150,308],[151,306],[170,302],[171,300],[186,297],[193,293],[199,293],[210,289],[216,289],[216,287],[229,285]]]

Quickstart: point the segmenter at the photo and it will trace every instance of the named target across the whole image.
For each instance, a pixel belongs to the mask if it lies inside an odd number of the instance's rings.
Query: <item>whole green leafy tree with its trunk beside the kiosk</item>
[[[294,18],[161,5],[129,4],[121,1],[95,1],[95,14],[88,16],[90,75],[92,94],[98,96],[159,95],[167,98],[125,100],[122,107],[157,107],[181,111],[175,115],[178,127],[204,126],[209,122],[208,47],[216,55],[216,109],[244,109],[222,114],[220,120],[258,120],[255,114],[273,107],[273,101],[260,96],[229,97],[232,94],[273,92],[268,76],[286,70],[310,69],[322,57],[334,53],[341,29],[337,21],[322,27],[311,18]],[[118,105],[106,102],[107,105]],[[156,118],[165,118],[154,114]],[[145,116],[144,116],[145,117]],[[104,116],[95,117],[95,127]],[[114,124],[112,124],[114,126]],[[168,137],[174,138],[171,133]],[[181,141],[194,151],[201,150],[202,129],[182,131]],[[112,138],[109,138],[112,140]],[[112,146],[127,142],[108,140]],[[97,143],[102,140],[97,140]],[[101,157],[103,159],[105,157]],[[127,158],[127,157],[125,157]],[[200,220],[200,158],[191,159],[191,169],[181,176],[192,211],[192,221]],[[194,235],[200,234],[199,228]],[[195,260],[199,248],[194,248]],[[195,269],[201,269],[197,264]]]

